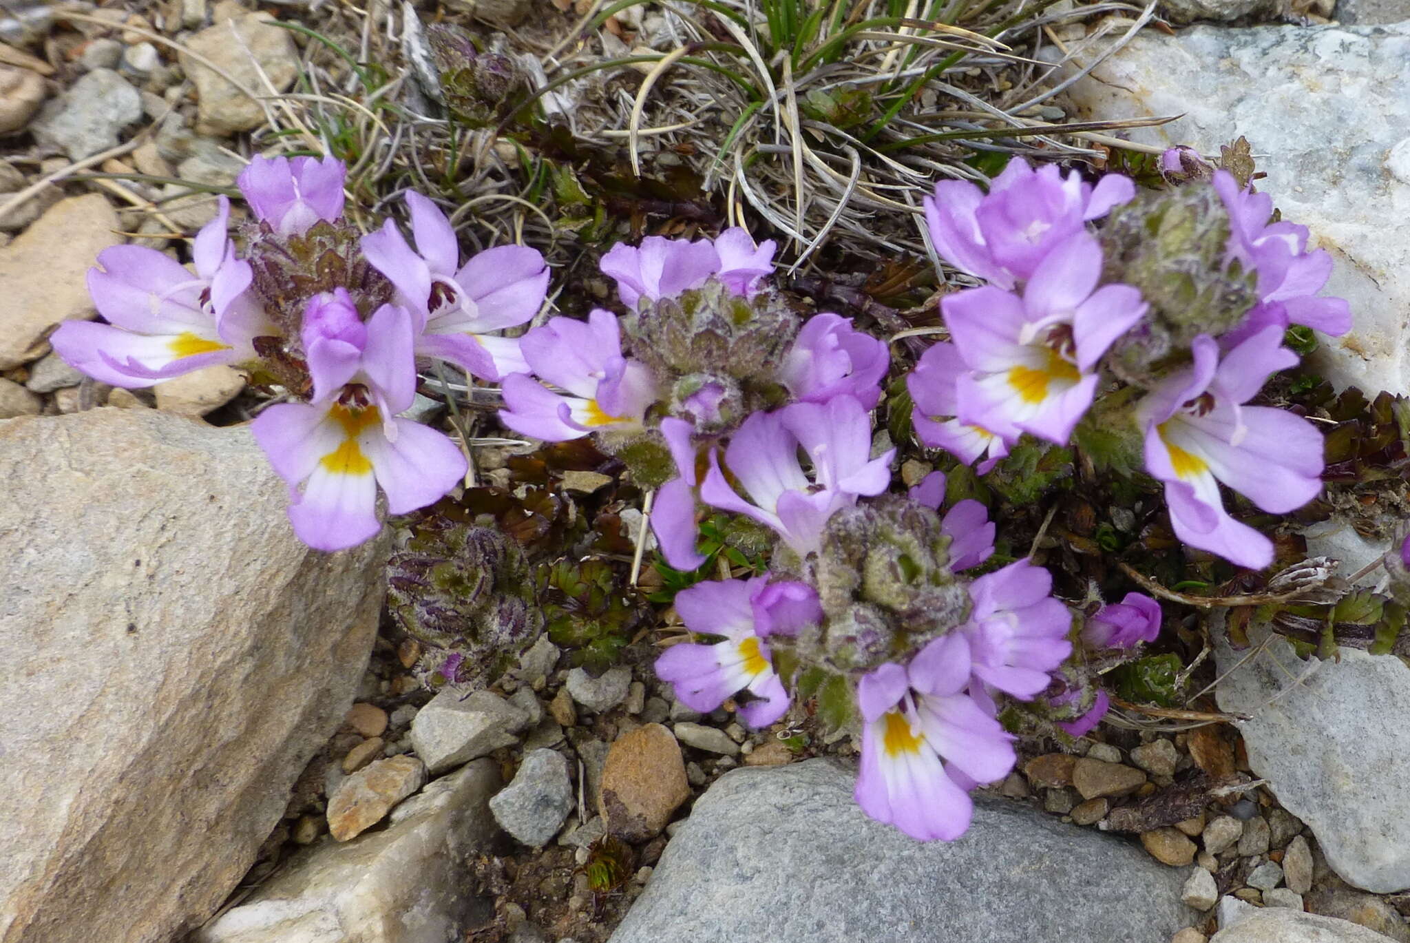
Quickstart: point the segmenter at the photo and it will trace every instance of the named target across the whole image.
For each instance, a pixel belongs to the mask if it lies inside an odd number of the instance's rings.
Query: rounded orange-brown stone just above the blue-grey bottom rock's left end
[[[598,812],[611,834],[627,841],[654,839],[689,795],[681,745],[661,724],[637,727],[608,750]]]

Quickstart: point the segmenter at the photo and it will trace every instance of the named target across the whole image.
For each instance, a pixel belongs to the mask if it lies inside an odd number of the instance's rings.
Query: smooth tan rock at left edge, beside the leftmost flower
[[[42,354],[61,322],[96,313],[85,277],[102,250],[121,241],[116,229],[117,213],[103,196],[70,196],[0,248],[0,370]]]

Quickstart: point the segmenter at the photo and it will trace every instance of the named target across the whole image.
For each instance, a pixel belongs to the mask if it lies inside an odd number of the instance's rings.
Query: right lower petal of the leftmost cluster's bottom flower
[[[465,456],[448,438],[410,419],[393,418],[396,439],[382,426],[368,428],[358,442],[376,483],[386,491],[391,514],[409,514],[434,504],[465,479]]]

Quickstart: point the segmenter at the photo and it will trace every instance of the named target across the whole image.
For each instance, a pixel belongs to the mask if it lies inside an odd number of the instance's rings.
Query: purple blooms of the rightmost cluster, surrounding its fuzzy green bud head
[[[1183,172],[1197,157],[1167,152]],[[1265,511],[1283,514],[1321,490],[1321,435],[1282,409],[1245,405],[1279,370],[1296,366],[1283,347],[1289,325],[1341,335],[1347,302],[1320,298],[1331,272],[1324,250],[1306,251],[1307,229],[1270,223],[1272,199],[1241,188],[1227,171],[1208,182],[1228,216],[1225,260],[1256,277],[1255,302],[1218,336],[1200,333],[1155,377],[1136,408],[1145,469],[1165,483],[1176,536],[1239,566],[1273,560],[1265,535],[1235,521],[1218,483]],[[908,388],[916,433],[962,462],[1007,455],[1022,433],[1066,445],[1094,398],[1111,383],[1103,359],[1138,328],[1148,305],[1131,285],[1098,287],[1103,247],[1089,222],[1135,196],[1132,182],[1107,175],[1096,188],[1053,165],[1014,160],[986,195],[946,181],[925,202],[936,251],[988,284],[940,302],[952,343],[925,352]]]

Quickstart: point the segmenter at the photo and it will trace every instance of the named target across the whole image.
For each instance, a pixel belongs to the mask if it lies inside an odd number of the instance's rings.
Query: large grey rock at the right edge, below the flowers
[[[1252,630],[1251,641],[1261,635]],[[1410,888],[1410,668],[1345,648],[1340,661],[1301,661],[1280,638],[1235,671],[1244,655],[1217,639],[1225,676],[1215,695],[1221,710],[1252,716],[1239,728],[1255,775],[1308,824],[1348,884]],[[1239,853],[1258,851],[1241,840]]]

